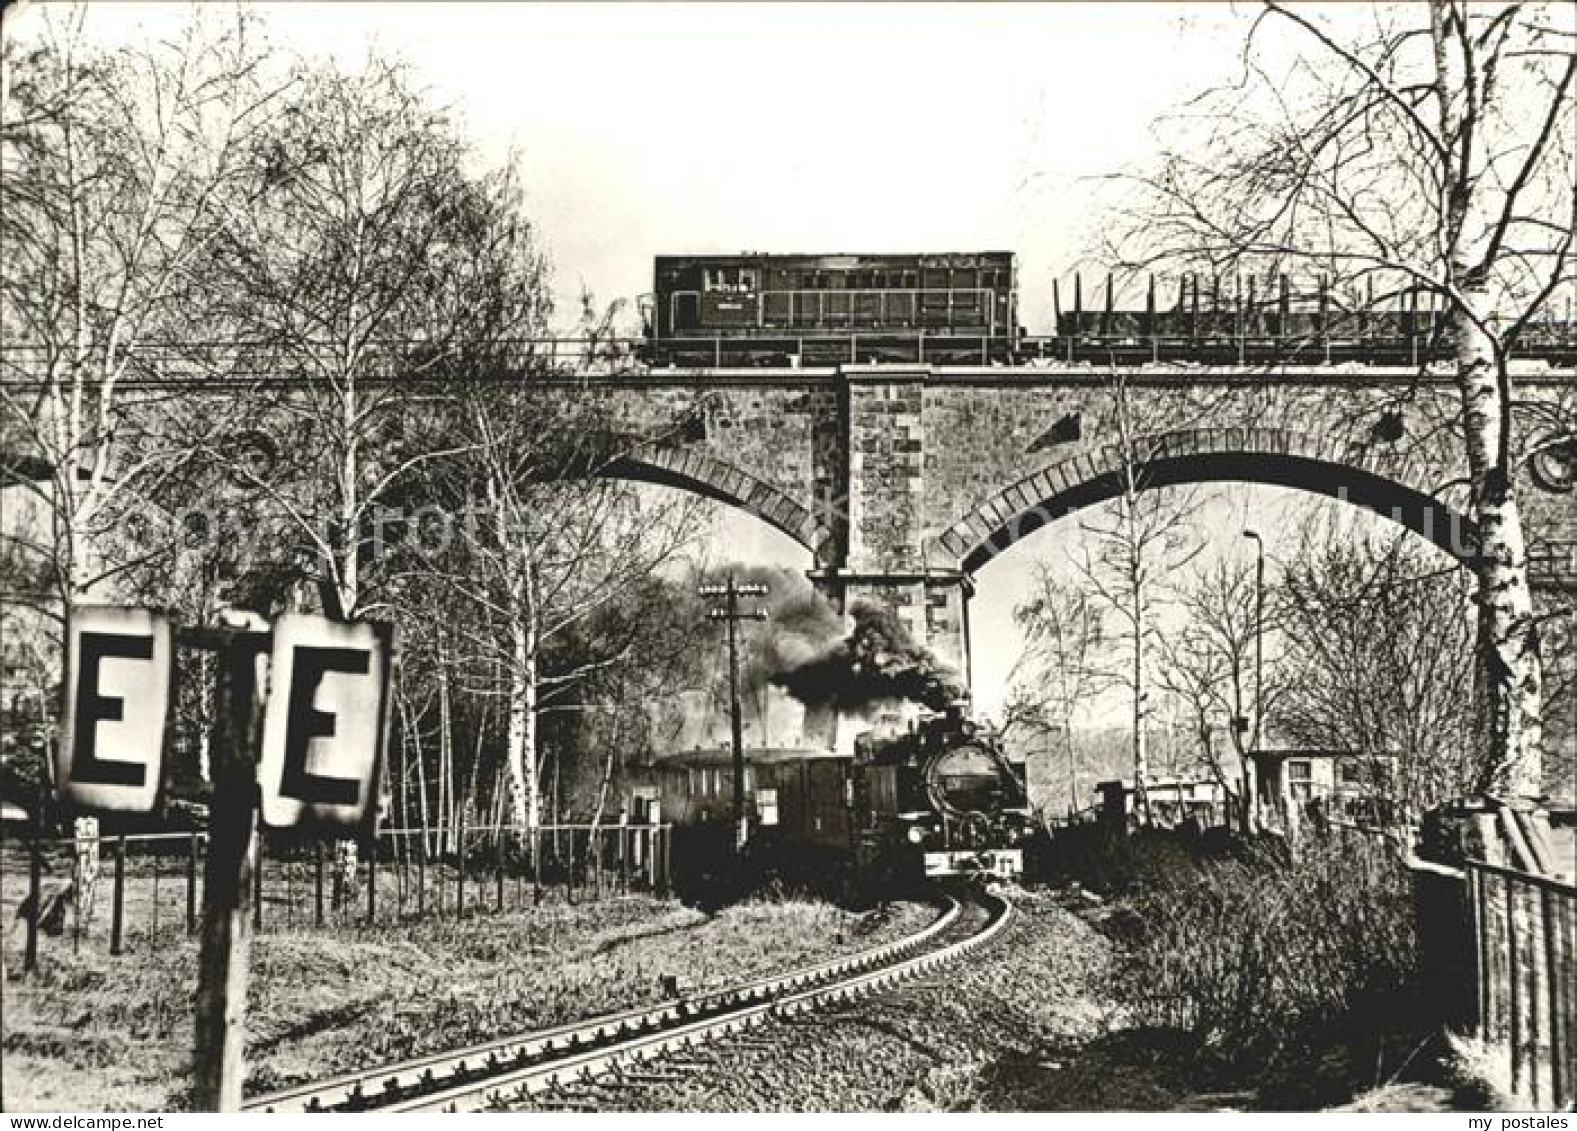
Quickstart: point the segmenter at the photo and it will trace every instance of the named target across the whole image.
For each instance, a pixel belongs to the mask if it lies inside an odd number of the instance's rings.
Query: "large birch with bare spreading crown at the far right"
[[[1538,793],[1541,664],[1512,356],[1574,282],[1569,5],[1266,3],[1240,82],[1165,123],[1121,249],[1139,267],[1329,274],[1441,311],[1478,527],[1478,789]]]

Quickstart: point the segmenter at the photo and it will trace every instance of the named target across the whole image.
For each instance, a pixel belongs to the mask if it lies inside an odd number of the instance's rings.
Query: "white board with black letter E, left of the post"
[[[175,633],[151,609],[71,609],[55,797],[82,809],[151,812],[164,768]]]

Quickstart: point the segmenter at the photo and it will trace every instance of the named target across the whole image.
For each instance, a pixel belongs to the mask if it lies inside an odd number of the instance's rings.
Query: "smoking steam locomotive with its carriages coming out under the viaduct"
[[[746,751],[747,855],[790,880],[847,891],[1023,872],[1035,836],[1025,765],[962,711],[859,735],[853,756]],[[705,883],[735,866],[727,749],[664,759],[632,782],[632,816],[670,822],[673,872]],[[683,883],[681,883],[683,887]]]

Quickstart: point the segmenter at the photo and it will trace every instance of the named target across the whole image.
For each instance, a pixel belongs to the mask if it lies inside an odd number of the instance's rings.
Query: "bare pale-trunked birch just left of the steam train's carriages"
[[[467,519],[438,584],[472,610],[453,625],[467,691],[501,702],[511,819],[536,827],[541,719],[583,710],[587,683],[637,651],[634,626],[582,631],[689,543],[695,500],[606,478],[623,451],[572,393],[524,407],[509,388],[473,386],[454,427],[467,454],[442,475]]]

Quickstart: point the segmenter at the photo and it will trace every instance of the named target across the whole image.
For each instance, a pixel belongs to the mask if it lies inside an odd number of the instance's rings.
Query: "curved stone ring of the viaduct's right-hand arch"
[[[1143,486],[1260,483],[1340,498],[1413,530],[1456,557],[1473,562],[1478,528],[1440,500],[1422,462],[1389,445],[1353,445],[1329,435],[1263,427],[1161,432],[1140,439],[1137,470]],[[1085,506],[1123,492],[1117,445],[1080,453],[1025,475],[978,503],[932,544],[938,566],[979,569],[1020,538]]]

